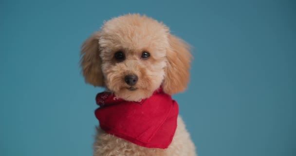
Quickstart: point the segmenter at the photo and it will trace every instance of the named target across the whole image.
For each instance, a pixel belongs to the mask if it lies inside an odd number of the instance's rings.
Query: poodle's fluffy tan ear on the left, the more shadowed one
[[[99,35],[100,32],[95,32],[90,38],[86,39],[80,52],[83,76],[85,81],[93,86],[104,86],[102,60],[99,56]]]

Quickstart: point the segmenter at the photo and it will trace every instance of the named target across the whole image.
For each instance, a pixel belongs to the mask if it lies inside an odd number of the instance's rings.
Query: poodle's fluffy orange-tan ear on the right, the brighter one
[[[184,40],[169,35],[168,41],[170,47],[166,50],[167,67],[163,88],[167,94],[172,95],[187,88],[192,55]]]

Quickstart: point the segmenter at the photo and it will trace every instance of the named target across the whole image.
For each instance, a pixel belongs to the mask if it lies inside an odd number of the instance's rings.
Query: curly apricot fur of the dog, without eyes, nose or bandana
[[[114,58],[116,52],[124,61]],[[148,59],[141,58],[148,52]],[[191,54],[182,39],[173,36],[165,24],[129,14],[104,23],[99,32],[87,39],[81,50],[81,66],[86,82],[105,87],[119,98],[138,101],[149,98],[162,85],[167,94],[186,89]],[[126,75],[136,75],[136,90],[129,90]],[[94,156],[195,156],[195,147],[185,124],[178,126],[167,149],[145,148],[105,133],[99,127],[94,142]]]

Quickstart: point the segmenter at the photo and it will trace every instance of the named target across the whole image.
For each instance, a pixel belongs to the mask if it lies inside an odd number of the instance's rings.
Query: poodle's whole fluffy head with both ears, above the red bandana
[[[81,50],[86,82],[129,101],[148,98],[160,86],[167,94],[186,89],[191,54],[163,23],[138,14],[107,21]]]

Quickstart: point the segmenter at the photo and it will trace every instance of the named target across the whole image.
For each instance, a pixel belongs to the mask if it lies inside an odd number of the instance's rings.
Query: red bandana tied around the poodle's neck
[[[139,146],[166,149],[177,128],[178,104],[162,89],[132,102],[103,92],[96,96],[95,117],[109,134]]]

